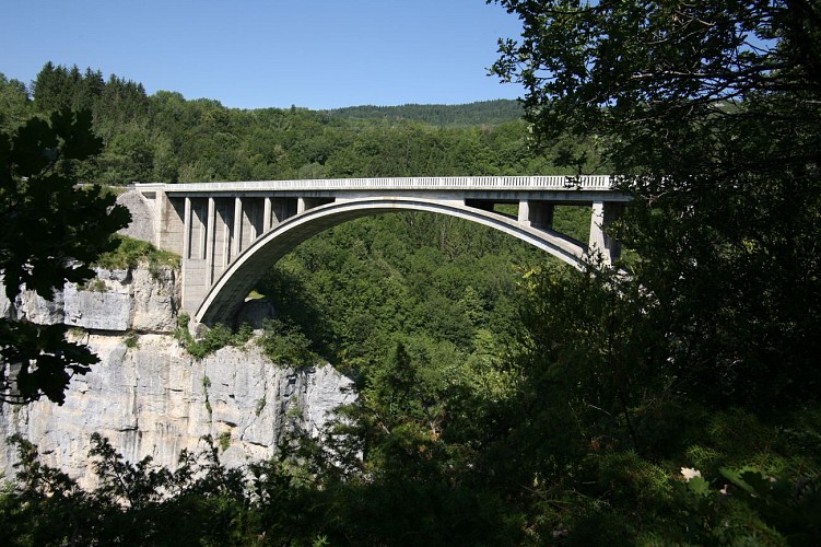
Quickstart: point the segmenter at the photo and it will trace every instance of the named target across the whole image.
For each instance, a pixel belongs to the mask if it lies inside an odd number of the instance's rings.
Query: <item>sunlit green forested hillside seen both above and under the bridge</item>
[[[7,130],[55,109],[92,112],[104,149],[79,165],[84,182],[571,172],[530,153],[520,107],[512,101],[239,110],[165,91],[149,96],[140,83],[50,62],[30,86],[4,78],[0,84]],[[558,228],[585,241],[584,209],[558,208]],[[472,223],[399,213],[314,237],[281,260],[258,291],[315,352],[362,373],[398,342],[464,361],[478,337],[486,342],[512,335],[517,280],[546,261],[533,248]]]

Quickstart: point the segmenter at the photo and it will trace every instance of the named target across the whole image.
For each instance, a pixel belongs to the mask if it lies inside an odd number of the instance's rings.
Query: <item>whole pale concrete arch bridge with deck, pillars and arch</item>
[[[183,309],[199,323],[232,321],[250,290],[308,237],[360,217],[402,210],[466,219],[518,237],[578,266],[620,245],[603,228],[628,197],[609,176],[348,178],[197,184],[136,184],[151,211],[152,240],[183,257]],[[494,210],[514,203],[513,217]],[[590,238],[553,230],[559,205],[591,206]]]

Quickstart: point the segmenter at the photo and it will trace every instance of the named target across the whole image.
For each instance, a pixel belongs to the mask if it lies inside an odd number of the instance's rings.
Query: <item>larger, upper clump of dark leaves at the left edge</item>
[[[98,187],[74,186],[72,162],[99,151],[86,114],[33,118],[14,137],[3,136],[0,156],[0,269],[11,300],[20,287],[51,300],[54,288],[80,282],[84,266],[110,247],[108,235],[130,221],[128,210]]]

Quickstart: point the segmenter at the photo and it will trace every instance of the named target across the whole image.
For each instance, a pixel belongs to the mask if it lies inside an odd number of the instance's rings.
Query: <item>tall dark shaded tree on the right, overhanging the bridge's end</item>
[[[821,11],[777,2],[499,3],[524,23],[494,72],[537,138],[595,137],[634,198],[673,371],[714,403],[821,397]]]

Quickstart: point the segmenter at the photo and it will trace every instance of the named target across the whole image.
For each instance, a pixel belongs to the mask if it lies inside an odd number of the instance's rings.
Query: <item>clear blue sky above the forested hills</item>
[[[98,69],[225,106],[459,104],[523,95],[486,69],[518,20],[484,0],[5,0],[0,72]]]

